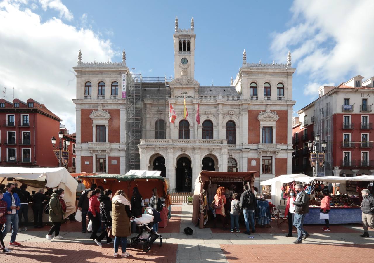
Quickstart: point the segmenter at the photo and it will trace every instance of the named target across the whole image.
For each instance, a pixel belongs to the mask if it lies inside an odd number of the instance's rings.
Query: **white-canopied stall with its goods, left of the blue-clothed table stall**
[[[279,205],[282,200],[282,186],[283,183],[293,181],[309,183],[313,178],[305,174],[283,174],[272,179],[262,181],[261,194],[265,199],[271,199],[272,204]],[[269,200],[270,201],[270,200]]]

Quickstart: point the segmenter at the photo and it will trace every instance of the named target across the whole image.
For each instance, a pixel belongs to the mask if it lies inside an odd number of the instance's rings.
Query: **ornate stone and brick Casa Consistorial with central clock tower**
[[[130,72],[125,52],[120,63],[79,54],[77,172],[160,170],[176,192],[193,190],[201,170],[260,171],[257,186],[291,173],[291,54],[286,64],[247,63],[244,51],[229,86],[200,86],[193,19],[181,29],[176,18],[173,39],[174,78]]]

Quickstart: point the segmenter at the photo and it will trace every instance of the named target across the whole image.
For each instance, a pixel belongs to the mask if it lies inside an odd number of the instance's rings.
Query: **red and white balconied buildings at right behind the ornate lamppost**
[[[319,98],[297,112],[293,172],[312,175],[306,144],[319,134],[328,143],[319,175],[374,174],[374,77],[363,79],[358,75],[338,86],[322,86]]]

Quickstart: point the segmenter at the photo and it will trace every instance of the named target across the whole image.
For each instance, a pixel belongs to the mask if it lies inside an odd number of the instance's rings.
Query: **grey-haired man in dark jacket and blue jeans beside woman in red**
[[[303,228],[305,214],[309,213],[309,196],[301,184],[295,186],[295,192],[297,196],[294,201],[294,226],[297,228],[297,239],[294,241],[294,244],[301,244],[301,239],[306,239],[310,236]]]

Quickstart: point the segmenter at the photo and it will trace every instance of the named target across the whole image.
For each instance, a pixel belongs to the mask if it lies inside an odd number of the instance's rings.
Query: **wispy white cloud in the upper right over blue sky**
[[[292,26],[275,34],[270,48],[281,60],[290,50],[297,74],[308,74],[312,82],[373,76],[372,10],[372,0],[295,0]]]

